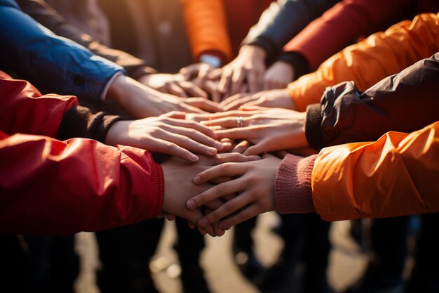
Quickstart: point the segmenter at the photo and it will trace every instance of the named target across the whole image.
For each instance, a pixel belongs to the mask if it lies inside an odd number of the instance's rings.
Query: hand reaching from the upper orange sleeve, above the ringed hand
[[[254,94],[238,93],[219,103],[219,107],[224,111],[236,110],[243,105],[296,110],[288,89],[272,89]]]

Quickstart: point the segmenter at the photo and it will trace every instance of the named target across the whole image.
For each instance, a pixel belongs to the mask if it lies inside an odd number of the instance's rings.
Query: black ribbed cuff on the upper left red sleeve
[[[69,138],[90,138],[104,143],[107,132],[119,116],[106,115],[105,112],[93,114],[88,108],[73,107],[62,117],[57,138],[65,141]]]

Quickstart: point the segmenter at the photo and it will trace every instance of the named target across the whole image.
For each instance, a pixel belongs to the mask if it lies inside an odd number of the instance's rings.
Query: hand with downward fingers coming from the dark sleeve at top
[[[265,71],[266,52],[259,46],[242,46],[238,56],[231,63],[209,74],[211,79],[220,77],[218,89],[224,97],[243,90],[247,82],[248,91],[262,90],[262,75]]]

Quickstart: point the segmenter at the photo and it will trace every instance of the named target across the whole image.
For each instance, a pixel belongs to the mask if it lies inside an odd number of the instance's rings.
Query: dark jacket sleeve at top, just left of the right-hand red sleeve
[[[334,5],[335,0],[288,0],[273,13],[272,19],[260,27],[259,34],[247,38],[247,44],[264,48],[268,58],[281,53],[282,48],[312,20]]]

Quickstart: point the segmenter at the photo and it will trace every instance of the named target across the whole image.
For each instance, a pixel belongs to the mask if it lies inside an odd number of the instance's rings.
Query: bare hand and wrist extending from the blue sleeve
[[[180,98],[161,93],[123,74],[116,77],[109,86],[106,100],[121,105],[135,118],[158,116],[172,111],[205,113],[222,110],[211,100]]]

